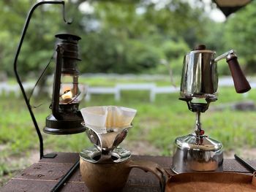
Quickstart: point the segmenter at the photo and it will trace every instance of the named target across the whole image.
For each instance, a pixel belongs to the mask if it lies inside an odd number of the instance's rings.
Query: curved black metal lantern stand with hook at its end
[[[29,27],[29,21],[30,21],[32,15],[33,15],[34,10],[37,9],[37,7],[39,7],[39,6],[42,5],[42,4],[63,4],[63,12],[62,12],[62,14],[63,14],[64,22],[67,23],[67,24],[72,23],[71,21],[67,21],[66,18],[65,18],[65,10],[64,10],[64,8],[65,8],[65,7],[64,7],[65,2],[64,2],[64,1],[40,1],[40,2],[38,2],[37,4],[34,4],[34,6],[31,7],[31,9],[29,10],[29,14],[28,14],[28,16],[27,16],[27,18],[26,18],[26,22],[25,22],[25,24],[24,24],[24,26],[23,26],[23,31],[22,31],[22,33],[21,33],[20,42],[19,42],[19,44],[18,44],[18,48],[17,48],[16,54],[15,54],[15,59],[14,59],[14,62],[13,62],[13,68],[14,68],[14,73],[15,73],[16,80],[17,80],[17,82],[18,82],[18,85],[20,85],[20,90],[21,90],[21,92],[22,92],[22,94],[23,94],[24,100],[26,101],[26,106],[28,107],[28,110],[29,110],[31,119],[32,119],[32,121],[33,121],[33,123],[34,123],[34,128],[36,129],[36,131],[37,131],[37,136],[38,136],[38,138],[39,138],[39,155],[40,155],[40,159],[43,157],[43,153],[44,153],[44,152],[43,152],[43,139],[42,139],[42,134],[41,134],[41,132],[40,132],[39,126],[38,126],[38,124],[37,124],[37,120],[36,120],[36,118],[35,118],[35,116],[34,116],[34,113],[33,113],[32,109],[31,109],[31,106],[30,106],[30,104],[29,104],[29,99],[28,99],[28,97],[26,96],[26,91],[25,91],[25,89],[24,89],[24,87],[23,87],[23,85],[22,85],[22,82],[21,82],[21,80],[20,80],[20,76],[19,76],[18,71],[17,71],[17,61],[18,61],[18,56],[19,56],[19,54],[20,54],[21,46],[22,46],[22,44],[23,44],[24,37],[25,37],[25,35],[26,35],[26,31],[27,31],[27,29],[28,29],[28,27]]]

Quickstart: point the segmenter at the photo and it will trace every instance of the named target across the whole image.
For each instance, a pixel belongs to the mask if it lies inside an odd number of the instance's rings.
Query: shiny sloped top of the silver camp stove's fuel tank
[[[197,137],[195,134],[189,134],[184,137],[177,137],[175,144],[180,149],[217,151],[222,149],[222,143],[210,137]]]

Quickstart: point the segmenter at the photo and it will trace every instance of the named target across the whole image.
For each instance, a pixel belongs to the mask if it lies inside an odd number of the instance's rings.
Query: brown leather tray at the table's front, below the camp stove
[[[256,191],[256,173],[253,175],[215,172],[183,173],[170,177],[165,192],[242,192]]]

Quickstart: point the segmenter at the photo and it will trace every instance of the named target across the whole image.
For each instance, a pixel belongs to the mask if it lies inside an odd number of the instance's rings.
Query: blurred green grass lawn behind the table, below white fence
[[[104,82],[104,81],[103,81]],[[110,82],[105,81],[105,85]],[[165,82],[162,82],[165,84]],[[256,147],[256,112],[239,112],[230,109],[211,110],[224,104],[252,100],[256,101],[256,91],[249,94],[237,94],[234,88],[219,88],[218,101],[210,104],[210,110],[201,115],[203,129],[212,138],[221,141],[225,150]],[[159,94],[156,101],[150,103],[146,91],[124,91],[121,101],[114,101],[113,95],[95,95],[91,101],[82,101],[80,108],[96,105],[118,105],[138,110],[129,131],[127,141],[146,141],[159,150],[159,155],[173,153],[173,141],[176,137],[191,133],[195,127],[195,114],[187,110],[187,104],[178,100],[178,93]],[[47,96],[45,96],[46,98]],[[41,96],[42,98],[42,96]],[[43,128],[45,118],[50,114],[49,99],[33,99],[41,107],[34,109],[39,127]],[[22,165],[9,161],[12,158],[26,158],[31,152],[39,150],[37,134],[34,131],[29,111],[23,99],[15,96],[1,96],[0,109],[0,177],[20,169]],[[91,145],[86,134],[67,136],[42,133],[45,150],[79,152]],[[1,182],[0,182],[1,183]]]

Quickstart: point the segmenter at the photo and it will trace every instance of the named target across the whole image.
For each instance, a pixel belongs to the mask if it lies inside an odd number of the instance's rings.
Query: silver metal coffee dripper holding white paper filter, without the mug
[[[80,152],[84,161],[91,163],[120,163],[130,158],[131,152],[119,145],[132,128],[137,110],[117,106],[85,107],[80,110],[93,147]]]

